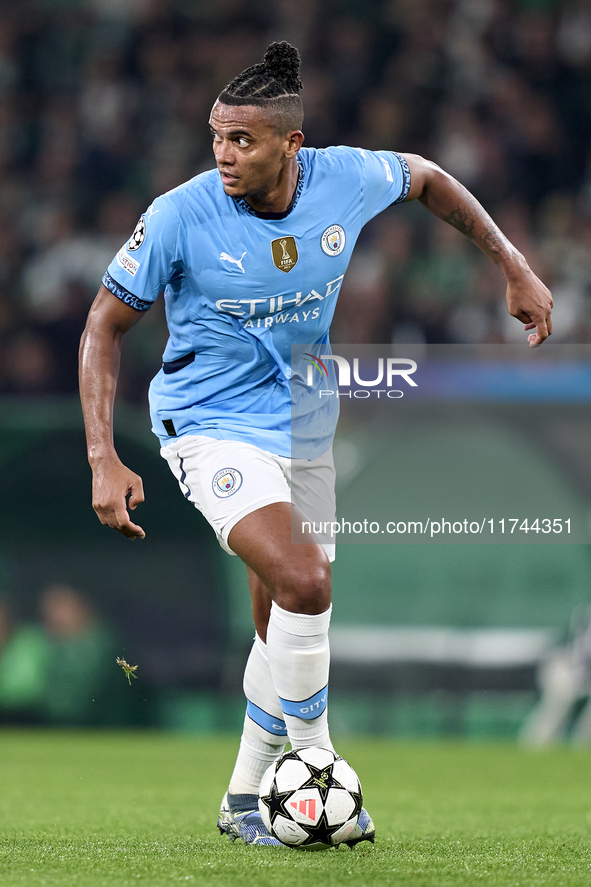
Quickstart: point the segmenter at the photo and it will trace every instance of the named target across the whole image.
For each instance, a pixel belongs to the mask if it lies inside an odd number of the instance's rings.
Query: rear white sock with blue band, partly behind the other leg
[[[244,670],[244,694],[247,699],[244,729],[228,789],[233,795],[258,794],[263,773],[279,757],[287,740],[267,647],[258,635]]]

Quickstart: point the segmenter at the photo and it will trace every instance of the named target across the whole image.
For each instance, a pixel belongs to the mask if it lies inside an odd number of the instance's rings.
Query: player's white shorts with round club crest
[[[236,440],[186,435],[160,450],[185,499],[199,509],[228,554],[228,536],[239,520],[274,502],[290,502],[306,520],[336,520],[332,450],[317,459],[289,459]],[[334,542],[323,547],[330,561]]]

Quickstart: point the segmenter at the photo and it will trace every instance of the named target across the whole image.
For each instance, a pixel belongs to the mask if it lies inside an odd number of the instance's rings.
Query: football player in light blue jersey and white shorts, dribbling
[[[260,844],[278,843],[257,792],[284,743],[332,749],[334,544],[320,544],[301,521],[292,537],[291,487],[334,515],[334,468],[321,434],[308,458],[292,459],[291,346],[328,347],[361,229],[405,200],[419,200],[502,270],[509,312],[532,331],[531,346],[552,330],[548,289],[436,164],[391,150],[303,147],[299,69],[297,50],[274,43],[218,96],[209,119],[215,169],[142,216],[103,278],[80,353],[93,506],[103,524],[142,538],[128,511],[144,499],[142,481],[117,456],[113,401],[122,337],[164,294],[170,338],[150,385],[153,430],[182,494],[246,564],[256,627],[244,730],[218,826]],[[363,810],[349,843],[374,834]]]

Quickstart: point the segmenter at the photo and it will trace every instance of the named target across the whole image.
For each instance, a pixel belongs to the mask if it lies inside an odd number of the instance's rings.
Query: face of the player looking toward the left
[[[277,188],[290,156],[290,134],[279,135],[262,108],[216,102],[209,118],[213,153],[229,197],[254,197]]]

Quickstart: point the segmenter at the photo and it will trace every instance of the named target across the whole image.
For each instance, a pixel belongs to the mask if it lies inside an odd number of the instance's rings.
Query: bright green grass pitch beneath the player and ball
[[[591,752],[348,740],[374,846],[231,844],[236,739],[0,731],[0,885],[589,887]]]

